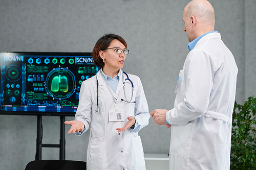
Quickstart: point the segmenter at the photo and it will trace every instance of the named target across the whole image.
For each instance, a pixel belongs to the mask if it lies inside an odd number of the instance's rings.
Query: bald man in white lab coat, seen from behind
[[[157,125],[171,128],[170,169],[229,169],[236,61],[214,30],[215,11],[208,1],[191,1],[182,20],[189,53],[179,73],[174,108],[151,115]]]

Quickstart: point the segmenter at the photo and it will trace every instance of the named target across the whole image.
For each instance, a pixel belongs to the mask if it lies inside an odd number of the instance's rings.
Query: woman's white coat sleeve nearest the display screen
[[[88,88],[88,84],[83,82],[79,93],[79,104],[76,110],[75,120],[79,120],[85,126],[85,130],[76,135],[82,135],[89,129],[91,123],[91,112],[92,112],[92,99],[91,91]]]

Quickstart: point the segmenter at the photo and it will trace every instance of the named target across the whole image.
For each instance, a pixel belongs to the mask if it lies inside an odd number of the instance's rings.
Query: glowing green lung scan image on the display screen
[[[69,91],[69,84],[68,84],[68,79],[66,76],[55,76],[52,79],[52,84],[51,84],[51,91],[53,92],[68,92]]]

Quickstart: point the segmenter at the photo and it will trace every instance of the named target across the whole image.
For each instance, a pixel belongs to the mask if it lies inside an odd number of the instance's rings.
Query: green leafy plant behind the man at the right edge
[[[256,169],[256,98],[234,103],[230,169]]]

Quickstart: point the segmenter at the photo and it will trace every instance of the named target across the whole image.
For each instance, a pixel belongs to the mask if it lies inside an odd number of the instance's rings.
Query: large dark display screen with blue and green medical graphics
[[[75,115],[91,53],[0,52],[1,114]]]

